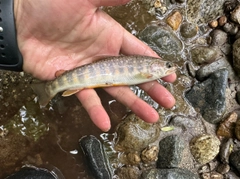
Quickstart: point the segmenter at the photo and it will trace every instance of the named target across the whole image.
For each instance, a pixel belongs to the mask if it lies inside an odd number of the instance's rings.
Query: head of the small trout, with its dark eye
[[[162,78],[176,72],[177,66],[169,61],[158,60],[150,64],[153,77]]]

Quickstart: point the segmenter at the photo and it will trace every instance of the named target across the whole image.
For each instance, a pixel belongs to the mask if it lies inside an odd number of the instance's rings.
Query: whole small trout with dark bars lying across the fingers
[[[136,85],[153,81],[176,71],[176,66],[148,56],[113,56],[66,71],[52,81],[32,84],[40,106],[59,92],[70,96],[84,88]]]

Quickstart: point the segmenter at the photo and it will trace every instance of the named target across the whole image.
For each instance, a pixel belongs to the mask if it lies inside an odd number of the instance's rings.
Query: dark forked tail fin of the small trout
[[[40,104],[41,107],[45,107],[49,101],[53,98],[52,96],[50,96],[46,90],[46,83],[34,83],[31,85],[34,93],[36,93],[36,95],[38,96],[38,102]]]

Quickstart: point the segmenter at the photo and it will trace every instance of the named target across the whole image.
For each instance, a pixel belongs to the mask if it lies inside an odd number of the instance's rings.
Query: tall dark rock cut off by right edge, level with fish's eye
[[[240,76],[240,39],[233,43],[233,68]]]

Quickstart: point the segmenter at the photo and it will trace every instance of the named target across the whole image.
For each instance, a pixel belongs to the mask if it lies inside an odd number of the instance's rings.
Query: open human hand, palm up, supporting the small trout
[[[147,45],[127,32],[99,9],[129,0],[15,0],[14,13],[18,46],[23,69],[41,80],[52,80],[59,70],[69,70],[94,61],[96,56],[156,56]],[[165,77],[173,82],[176,75]],[[175,99],[163,86],[153,81],[139,85],[166,108]],[[138,98],[127,86],[105,90],[147,122],[156,122],[158,113]],[[110,119],[94,89],[76,95],[92,121],[103,131],[110,129]]]

